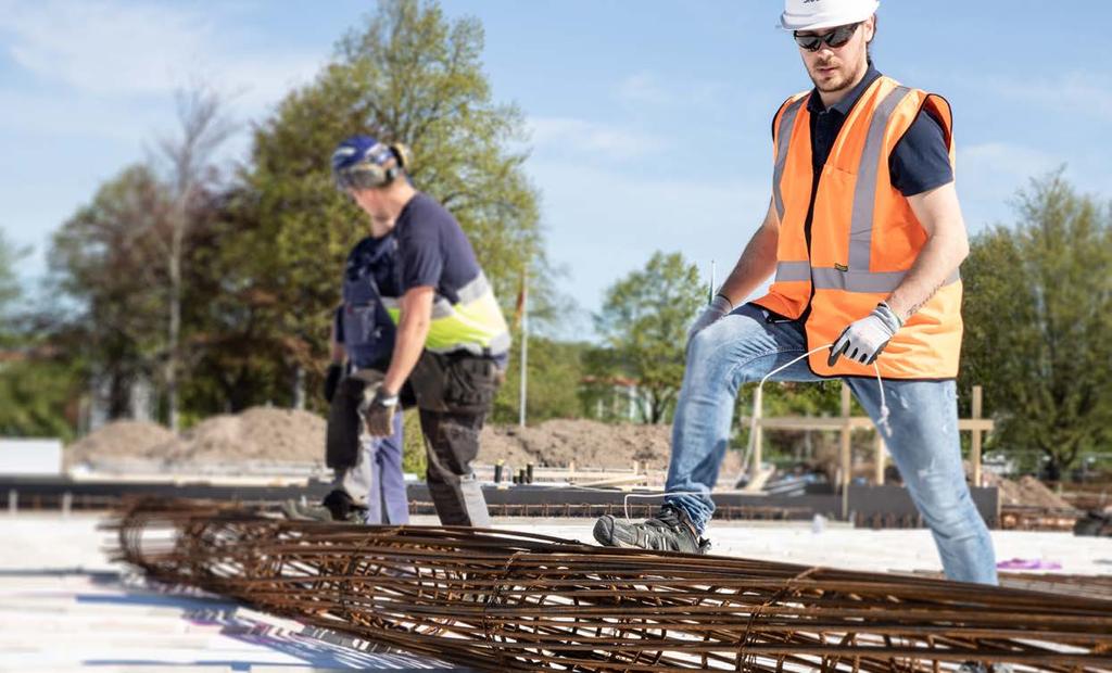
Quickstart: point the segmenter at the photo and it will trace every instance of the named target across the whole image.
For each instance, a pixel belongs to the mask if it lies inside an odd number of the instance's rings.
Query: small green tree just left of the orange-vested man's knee
[[[683,382],[687,328],[705,301],[695,265],[678,253],[654,254],[606,291],[595,324],[610,353],[593,358],[588,372],[633,378],[645,400],[642,419],[663,423]]]

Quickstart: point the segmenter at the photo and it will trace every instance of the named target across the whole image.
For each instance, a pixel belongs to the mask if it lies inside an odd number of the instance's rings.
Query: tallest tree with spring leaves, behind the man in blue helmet
[[[344,137],[410,146],[414,184],[459,219],[505,307],[520,269],[544,275],[537,195],[525,154],[513,149],[523,117],[494,102],[481,51],[477,20],[448,20],[436,2],[384,0],[316,80],[258,127],[239,199],[241,218],[258,224],[227,241],[227,253],[275,299],[267,320],[288,366],[319,376],[344,257],[368,230],[329,174]]]

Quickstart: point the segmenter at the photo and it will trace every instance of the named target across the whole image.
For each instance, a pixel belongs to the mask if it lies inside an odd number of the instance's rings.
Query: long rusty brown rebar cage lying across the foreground
[[[190,501],[109,527],[156,580],[480,670],[1112,671],[1112,601]]]

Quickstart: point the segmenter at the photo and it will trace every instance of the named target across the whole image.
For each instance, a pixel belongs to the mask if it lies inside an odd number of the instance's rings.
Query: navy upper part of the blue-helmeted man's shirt
[[[400,294],[428,286],[451,304],[459,288],[481,273],[475,250],[456,218],[431,197],[417,192],[398,215]]]

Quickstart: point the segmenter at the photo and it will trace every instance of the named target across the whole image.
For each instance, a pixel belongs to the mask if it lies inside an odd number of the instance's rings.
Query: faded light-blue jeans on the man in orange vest
[[[714,513],[709,493],[726,453],[738,388],[759,382],[806,352],[798,323],[771,323],[766,313],[752,304],[692,339],[676,405],[666,485],[668,492],[685,493],[669,495],[665,502],[686,512],[699,533]],[[803,359],[771,380],[823,379]],[[881,406],[876,379],[847,378],[846,383],[875,423]],[[946,576],[995,584],[992,538],[965,484],[954,382],[885,379],[884,392],[892,428],[885,444],[934,534]]]

